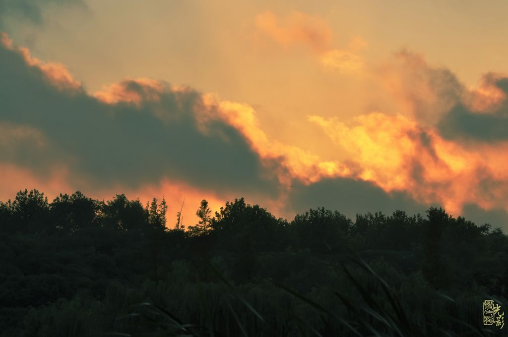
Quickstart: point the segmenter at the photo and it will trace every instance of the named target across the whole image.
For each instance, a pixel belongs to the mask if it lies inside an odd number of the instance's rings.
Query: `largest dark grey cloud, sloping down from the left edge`
[[[123,85],[141,98],[154,94],[134,81]],[[102,187],[137,187],[168,177],[216,191],[277,189],[237,129],[213,109],[207,121],[199,119],[200,111],[211,108],[192,89],[167,86],[155,100],[107,104],[81,88],[51,85],[21,53],[0,44],[0,102],[0,123],[39,130],[45,139],[43,147],[28,147],[24,139],[13,145],[16,155],[3,155],[23,166],[39,170],[57,158],[75,178]]]

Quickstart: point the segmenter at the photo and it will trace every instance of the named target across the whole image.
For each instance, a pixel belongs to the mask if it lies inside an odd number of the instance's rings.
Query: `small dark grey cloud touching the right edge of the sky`
[[[494,83],[505,94],[508,93],[508,79],[500,78]],[[445,139],[496,142],[508,139],[508,102],[501,102],[489,113],[478,113],[463,104],[455,105],[438,124],[439,132]]]

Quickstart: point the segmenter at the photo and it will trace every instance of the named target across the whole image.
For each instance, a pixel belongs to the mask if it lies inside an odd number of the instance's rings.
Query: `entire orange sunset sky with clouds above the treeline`
[[[508,229],[504,1],[0,0],[0,200]],[[185,220],[187,219],[187,220]],[[176,220],[175,220],[176,221]]]

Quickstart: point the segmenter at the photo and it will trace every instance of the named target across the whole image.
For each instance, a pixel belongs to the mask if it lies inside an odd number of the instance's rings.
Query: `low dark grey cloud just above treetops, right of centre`
[[[309,208],[324,207],[351,217],[357,213],[396,210],[408,214],[425,214],[427,206],[416,203],[406,193],[386,193],[372,183],[349,178],[330,178],[308,186],[294,184],[289,196],[292,211],[302,213]]]

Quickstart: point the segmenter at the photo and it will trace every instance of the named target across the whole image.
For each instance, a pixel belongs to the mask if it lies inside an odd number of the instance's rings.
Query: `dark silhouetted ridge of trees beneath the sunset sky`
[[[349,335],[316,308],[359,320],[365,312],[353,314],[335,294],[361,307],[362,292],[389,308],[376,275],[422,335],[465,333],[454,319],[481,325],[486,298],[507,309],[508,238],[489,224],[440,208],[354,220],[318,208],[287,221],[243,198],[214,215],[206,200],[196,206],[199,222],[184,224],[180,205],[164,198],[142,205],[124,194],[100,201],[78,191],[49,203],[24,190],[0,202],[0,336],[150,335],[152,328],[140,330],[143,315],[116,319],[141,302],[163,310],[150,311],[151,320],[171,321],[171,313],[225,335]],[[346,248],[376,275],[352,263]]]

